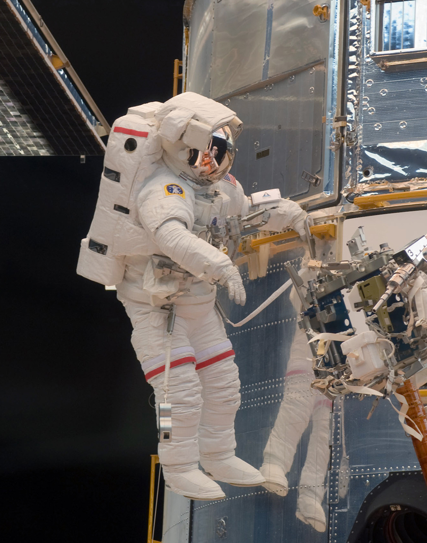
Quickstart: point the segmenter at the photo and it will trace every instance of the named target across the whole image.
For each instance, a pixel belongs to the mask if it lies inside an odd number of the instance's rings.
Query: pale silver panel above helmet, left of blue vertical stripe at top
[[[262,79],[267,7],[268,0],[215,3],[211,98]]]

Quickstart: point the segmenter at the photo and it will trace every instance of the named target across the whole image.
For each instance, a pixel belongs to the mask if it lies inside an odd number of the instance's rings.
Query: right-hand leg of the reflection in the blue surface
[[[326,517],[322,501],[329,463],[329,414],[332,402],[324,396],[315,398],[312,430],[307,457],[301,472],[296,515],[306,524],[311,524],[318,532],[324,532]]]

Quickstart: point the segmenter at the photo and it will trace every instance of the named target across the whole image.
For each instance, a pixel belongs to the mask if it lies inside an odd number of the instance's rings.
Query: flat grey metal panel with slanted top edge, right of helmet
[[[315,188],[301,174],[323,178],[324,86],[319,64],[223,102],[243,121],[233,174],[247,193],[278,187],[285,198],[307,198],[323,192],[322,183]]]

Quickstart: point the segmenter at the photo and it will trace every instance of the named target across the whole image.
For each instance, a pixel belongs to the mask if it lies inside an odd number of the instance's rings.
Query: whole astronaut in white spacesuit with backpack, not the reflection
[[[246,197],[228,173],[240,131],[233,111],[192,92],[130,108],[112,127],[97,210],[78,265],[79,274],[116,284],[156,408],[165,397],[171,342],[172,440],[159,443],[159,458],[166,486],[199,500],[225,497],[215,481],[242,487],[265,482],[234,452],[240,382],[215,309],[216,284],[236,304],[244,305],[246,293],[226,254],[227,217],[266,208],[263,229],[291,227],[304,235],[305,212],[298,204],[280,198],[278,190]],[[225,232],[215,244],[209,242],[211,225]],[[172,304],[175,320],[167,337]]]

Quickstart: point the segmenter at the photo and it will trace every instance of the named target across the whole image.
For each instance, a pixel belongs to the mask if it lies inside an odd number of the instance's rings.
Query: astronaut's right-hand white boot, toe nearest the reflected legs
[[[253,466],[237,458],[234,452],[200,453],[200,464],[206,474],[235,487],[256,487],[265,478]]]

